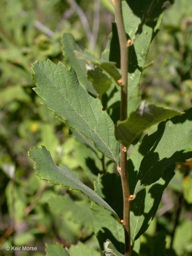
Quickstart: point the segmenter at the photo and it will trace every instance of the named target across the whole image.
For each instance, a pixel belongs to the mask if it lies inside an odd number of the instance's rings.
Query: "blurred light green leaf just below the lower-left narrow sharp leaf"
[[[53,194],[47,199],[49,206],[67,220],[81,224],[83,227],[92,228],[92,215],[90,206],[83,202],[75,202],[66,194],[64,196]]]

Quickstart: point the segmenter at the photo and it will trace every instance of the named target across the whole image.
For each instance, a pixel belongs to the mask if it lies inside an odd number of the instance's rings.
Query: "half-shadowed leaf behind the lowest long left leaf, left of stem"
[[[120,219],[123,219],[123,192],[120,176],[115,173],[106,173],[99,175],[95,182],[95,192],[102,197],[109,205],[114,207],[114,210],[119,214]],[[104,242],[109,239],[115,245],[117,250],[124,253],[124,228],[112,216],[111,212],[106,211],[92,203],[92,216],[94,232],[103,249]]]

